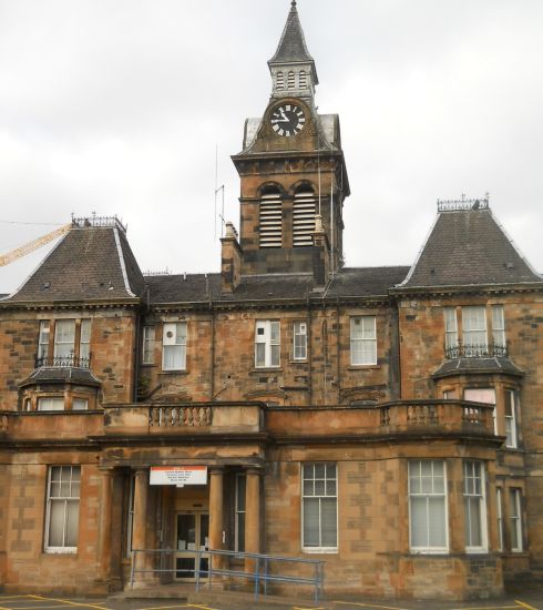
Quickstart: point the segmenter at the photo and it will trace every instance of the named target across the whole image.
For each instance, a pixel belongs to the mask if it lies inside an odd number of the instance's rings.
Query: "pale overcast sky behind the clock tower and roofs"
[[[144,272],[217,272],[216,150],[238,227],[229,155],[245,118],[268,103],[266,62],[289,6],[0,0],[0,254],[95,212],[127,224]],[[410,265],[437,199],[490,192],[543,272],[543,1],[299,0],[298,10],[319,112],[341,121],[347,265]],[[50,247],[0,267],[0,292]]]

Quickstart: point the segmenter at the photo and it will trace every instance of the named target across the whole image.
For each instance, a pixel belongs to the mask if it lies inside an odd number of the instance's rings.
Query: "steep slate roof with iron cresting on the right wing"
[[[441,212],[408,278],[399,287],[543,282],[490,210]]]

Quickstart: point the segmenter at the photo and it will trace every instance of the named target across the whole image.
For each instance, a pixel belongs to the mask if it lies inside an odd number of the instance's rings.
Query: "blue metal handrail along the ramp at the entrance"
[[[136,569],[136,558],[142,553],[154,553],[154,555],[175,555],[178,551],[175,549],[133,549],[132,550],[132,567],[130,581],[131,587],[134,587],[134,577],[136,573],[175,573],[180,571],[175,567],[173,568],[153,568],[153,569]],[[288,582],[291,584],[310,584],[314,587],[314,597],[315,602],[318,602],[319,598],[322,597],[324,580],[325,580],[325,562],[319,559],[300,559],[297,557],[279,557],[275,555],[263,555],[255,552],[237,552],[237,551],[227,551],[227,550],[184,550],[184,555],[194,555],[195,556],[195,589],[199,591],[201,581],[203,578],[207,578],[208,586],[212,586],[212,578],[214,576],[221,577],[234,577],[234,578],[245,578],[254,580],[254,591],[255,600],[258,600],[260,584],[263,586],[263,593],[266,596],[268,593],[268,582]],[[226,557],[230,559],[252,559],[255,562],[255,569],[253,571],[236,570],[230,568],[222,568],[219,566],[213,566],[213,558],[216,557]],[[202,569],[201,559],[209,560],[207,569]],[[283,563],[304,563],[314,566],[314,576],[311,577],[296,577],[280,573],[273,573],[269,571],[270,562],[283,562]],[[161,566],[163,565],[161,558]],[[193,570],[189,570],[193,571]]]

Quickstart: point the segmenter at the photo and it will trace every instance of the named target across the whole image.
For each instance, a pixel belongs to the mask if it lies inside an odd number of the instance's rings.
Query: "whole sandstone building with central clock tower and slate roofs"
[[[411,266],[345,267],[296,2],[268,65],[219,273],[143,276],[116,218],[74,220],[0,301],[4,590],[125,587],[133,549],[164,586],[195,549],[322,559],[330,594],[541,576],[543,278],[488,200],[442,203]]]

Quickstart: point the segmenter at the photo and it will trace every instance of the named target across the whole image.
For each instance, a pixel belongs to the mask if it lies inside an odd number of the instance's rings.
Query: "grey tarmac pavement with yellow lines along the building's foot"
[[[320,603],[286,598],[215,592],[213,597],[191,594],[187,599],[79,599],[40,594],[0,593],[0,610],[543,610],[543,586],[525,587],[499,600],[472,602],[387,601],[368,599],[327,599]]]

